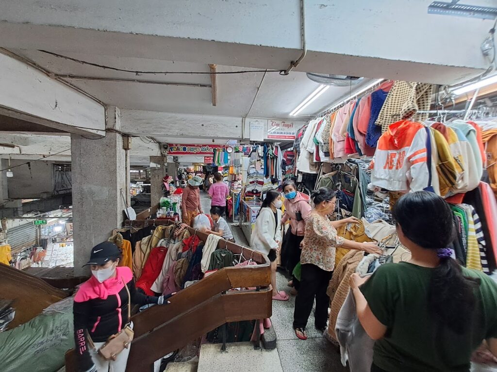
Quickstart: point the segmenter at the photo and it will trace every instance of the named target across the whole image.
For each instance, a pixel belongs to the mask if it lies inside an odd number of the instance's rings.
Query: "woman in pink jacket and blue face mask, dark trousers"
[[[290,272],[293,272],[295,265],[300,261],[300,243],[304,239],[304,229],[306,220],[311,214],[311,205],[309,204],[310,197],[303,192],[297,191],[293,181],[285,181],[283,183],[283,194],[285,195],[285,214],[281,219],[284,224],[290,219],[290,231],[283,240],[284,252],[286,254],[285,267]],[[296,295],[299,290],[300,282],[292,275],[292,280],[288,282],[289,287],[293,287],[290,293]]]

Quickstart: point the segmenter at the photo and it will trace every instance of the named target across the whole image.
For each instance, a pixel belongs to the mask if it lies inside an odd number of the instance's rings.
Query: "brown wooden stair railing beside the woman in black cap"
[[[129,223],[126,221],[125,226]],[[140,228],[154,223],[169,225],[171,222],[135,220],[133,226]],[[189,229],[200,240],[207,239],[206,234]],[[154,306],[132,316],[135,338],[127,372],[152,371],[154,361],[226,322],[271,316],[271,271],[267,256],[224,240],[219,245],[219,248],[227,248],[235,254],[242,253],[257,265],[223,268],[178,292],[170,298],[171,304]],[[248,287],[256,289],[230,291]],[[66,353],[66,371],[76,371],[74,350]]]

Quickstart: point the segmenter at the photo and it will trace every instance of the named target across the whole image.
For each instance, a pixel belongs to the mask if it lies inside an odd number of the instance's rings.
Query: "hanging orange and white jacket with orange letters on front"
[[[391,124],[378,140],[371,184],[404,192],[438,185],[436,172],[431,172],[432,182],[428,185],[426,138],[422,124],[406,120]]]

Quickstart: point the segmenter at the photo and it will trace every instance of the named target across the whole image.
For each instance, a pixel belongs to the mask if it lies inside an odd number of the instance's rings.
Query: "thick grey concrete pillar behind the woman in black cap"
[[[107,108],[107,128],[120,130],[120,112]],[[101,139],[71,135],[73,177],[74,272],[88,274],[90,250],[120,227],[129,194],[129,156],[120,134],[107,132]]]

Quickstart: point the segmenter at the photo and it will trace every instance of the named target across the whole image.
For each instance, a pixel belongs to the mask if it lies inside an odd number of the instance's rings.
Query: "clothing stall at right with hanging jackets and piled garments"
[[[368,256],[336,249],[326,332],[334,342],[342,342],[337,338],[338,324],[343,324],[340,310],[350,289],[350,275],[410,259],[410,252],[397,239],[391,212],[404,193],[428,190],[442,196],[451,206],[457,232],[449,247],[451,256],[466,268],[489,275],[496,270],[497,202],[491,186],[495,185],[495,162],[492,147],[485,143],[495,138],[497,124],[492,117],[479,117],[471,110],[430,110],[433,94],[435,103],[439,102],[442,93],[431,84],[380,81],[317,115],[296,133],[299,190],[323,186],[336,190],[333,218],[361,219],[338,230],[338,235],[377,242],[383,249],[382,255]],[[484,170],[490,170],[490,184]],[[351,371],[358,371],[354,361],[364,355],[349,352],[347,356],[342,346],[342,361],[348,358]],[[372,350],[367,352],[371,358]]]

